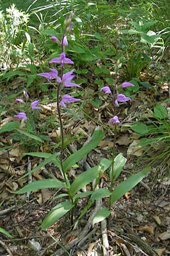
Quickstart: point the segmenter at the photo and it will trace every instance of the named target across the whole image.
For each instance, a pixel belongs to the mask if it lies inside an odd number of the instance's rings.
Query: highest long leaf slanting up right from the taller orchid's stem
[[[101,130],[95,130],[92,135],[92,141],[87,145],[80,148],[74,154],[70,155],[65,162],[63,162],[63,170],[66,172],[73,164],[79,162],[84,156],[86,156],[92,149],[97,147],[101,139],[103,139],[104,133]]]

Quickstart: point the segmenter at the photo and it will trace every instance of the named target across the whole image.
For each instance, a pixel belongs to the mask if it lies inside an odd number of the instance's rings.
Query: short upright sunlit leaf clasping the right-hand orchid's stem
[[[114,165],[113,165],[113,171],[111,167],[110,171],[110,179],[116,180],[118,175],[120,175],[122,168],[125,166],[126,158],[120,153],[114,158]]]

